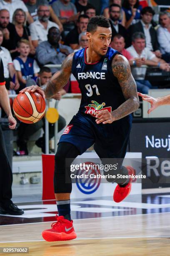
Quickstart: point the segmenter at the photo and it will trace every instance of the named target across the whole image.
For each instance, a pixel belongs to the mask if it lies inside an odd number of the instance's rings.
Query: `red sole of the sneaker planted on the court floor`
[[[70,234],[61,232],[61,233],[56,233],[56,232],[51,232],[51,231],[46,231],[44,230],[42,232],[42,237],[45,239],[47,242],[54,242],[54,241],[67,241],[67,240],[72,240],[77,237],[76,233],[73,231]]]

